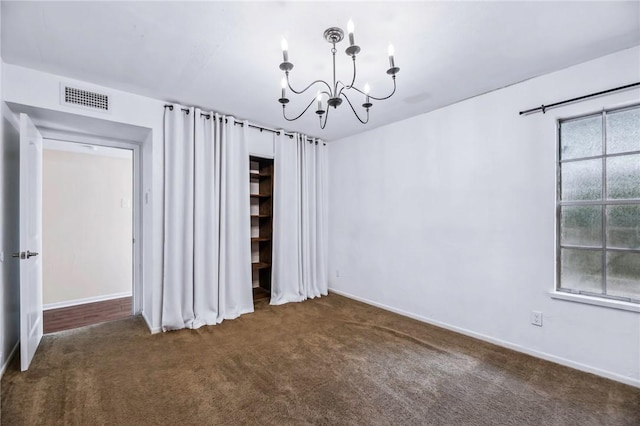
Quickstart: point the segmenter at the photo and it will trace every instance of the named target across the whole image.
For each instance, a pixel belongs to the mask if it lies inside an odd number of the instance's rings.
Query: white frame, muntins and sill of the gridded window
[[[640,198],[635,199],[608,199],[607,198],[607,185],[606,185],[606,159],[611,157],[620,157],[620,156],[628,156],[634,154],[640,154],[640,150],[638,151],[629,151],[624,153],[615,153],[615,154],[607,154],[607,127],[606,127],[606,118],[607,114],[620,112],[624,110],[638,109],[640,108],[640,104],[633,104],[619,108],[611,108],[611,109],[603,109],[600,112],[583,114],[579,116],[574,116],[570,118],[558,119],[557,124],[557,137],[556,137],[556,283],[555,289],[551,292],[551,296],[556,299],[561,300],[569,300],[574,302],[582,302],[592,305],[605,306],[616,309],[623,309],[629,311],[640,312],[640,300],[618,297],[613,295],[606,294],[606,286],[607,286],[607,252],[625,252],[625,253],[640,253],[640,249],[627,249],[627,248],[607,248],[606,247],[606,232],[607,232],[607,218],[606,218],[606,207],[612,205],[640,205]],[[562,135],[561,135],[561,124],[565,122],[571,122],[576,120],[581,120],[589,117],[597,117],[600,116],[602,118],[602,154],[597,156],[589,156],[589,157],[580,157],[580,158],[571,158],[568,160],[562,160],[560,155],[560,149],[562,147]],[[601,159],[602,160],[602,194],[600,199],[598,200],[571,200],[571,201],[563,201],[561,199],[561,190],[562,190],[562,174],[561,174],[561,164],[574,162],[574,161],[585,161],[585,160],[593,160],[593,159]],[[563,206],[602,206],[602,245],[601,247],[586,247],[586,246],[576,246],[576,245],[566,245],[561,243],[561,207]],[[583,290],[570,289],[570,288],[561,288],[561,249],[562,248],[570,248],[570,249],[578,249],[578,250],[595,250],[600,251],[602,253],[602,285],[603,285],[603,294],[591,293]]]

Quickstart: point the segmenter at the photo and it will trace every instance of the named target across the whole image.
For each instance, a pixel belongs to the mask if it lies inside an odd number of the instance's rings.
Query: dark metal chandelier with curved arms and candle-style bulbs
[[[391,94],[382,98],[377,98],[369,93],[369,90],[370,90],[369,84],[365,84],[362,90],[358,89],[355,86],[356,55],[360,52],[360,46],[357,46],[355,44],[353,29],[354,29],[353,21],[349,20],[349,23],[347,24],[347,31],[349,33],[349,47],[347,47],[347,49],[345,50],[345,53],[351,56],[351,59],[353,61],[353,77],[351,78],[351,84],[349,85],[344,84],[340,80],[336,80],[336,52],[337,52],[336,43],[341,42],[342,39],[344,38],[344,32],[342,31],[342,29],[337,27],[331,27],[325,30],[324,32],[324,39],[327,42],[331,43],[331,45],[333,46],[331,48],[331,54],[333,55],[333,84],[329,84],[324,80],[316,80],[310,83],[307,87],[305,87],[302,90],[295,90],[293,87],[291,87],[291,82],[289,81],[289,72],[293,69],[293,64],[289,62],[289,47],[288,47],[287,41],[285,39],[282,39],[283,61],[280,64],[280,69],[284,71],[285,76],[282,78],[282,81],[281,81],[282,96],[280,97],[280,99],[278,99],[278,102],[282,104],[282,115],[287,121],[295,121],[299,119],[304,115],[305,112],[307,112],[307,110],[311,107],[313,102],[317,101],[318,109],[316,110],[316,114],[318,114],[318,117],[320,118],[320,128],[324,129],[325,126],[327,125],[327,120],[329,119],[329,111],[331,107],[333,107],[334,109],[338,108],[338,106],[342,104],[342,98],[344,98],[349,104],[349,106],[351,107],[351,110],[355,114],[356,118],[362,124],[367,124],[369,122],[369,109],[373,106],[373,104],[371,103],[371,100],[383,101],[385,99],[389,99],[396,92],[396,74],[400,71],[400,68],[396,67],[395,65],[395,62],[393,59],[394,52],[393,52],[392,44],[389,44],[389,69],[387,70],[387,74],[390,75],[391,79],[393,80],[393,91],[391,92]],[[322,89],[325,89],[326,87],[326,90],[317,91],[316,97],[311,99],[311,102],[309,102],[309,105],[307,105],[307,107],[298,116],[294,118],[287,117],[286,107],[287,107],[287,104],[289,103],[289,99],[287,98],[287,88],[291,92],[295,93],[296,95],[299,95],[299,94],[305,93],[307,90],[311,89],[313,86],[318,84]],[[362,107],[366,112],[366,119],[362,119],[360,117],[360,115],[354,108],[353,103],[351,102],[351,99],[349,99],[349,96],[347,96],[347,92],[350,92],[350,91],[358,92],[364,97],[364,103],[362,104]],[[325,104],[323,104],[323,100],[325,97],[327,98],[326,110],[324,109]]]

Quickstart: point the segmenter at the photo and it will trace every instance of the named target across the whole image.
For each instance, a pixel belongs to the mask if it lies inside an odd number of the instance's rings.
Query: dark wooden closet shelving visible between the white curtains
[[[251,259],[254,300],[271,294],[273,160],[249,157],[251,183]]]

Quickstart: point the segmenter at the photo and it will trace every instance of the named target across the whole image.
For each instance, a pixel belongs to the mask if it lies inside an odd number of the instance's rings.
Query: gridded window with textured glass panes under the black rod
[[[640,303],[640,105],[558,128],[556,290]]]

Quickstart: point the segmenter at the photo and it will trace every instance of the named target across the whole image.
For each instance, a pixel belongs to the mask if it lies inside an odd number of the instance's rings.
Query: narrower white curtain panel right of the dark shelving
[[[275,138],[271,304],[326,295],[326,147],[305,135]]]

